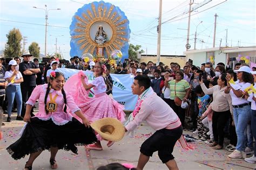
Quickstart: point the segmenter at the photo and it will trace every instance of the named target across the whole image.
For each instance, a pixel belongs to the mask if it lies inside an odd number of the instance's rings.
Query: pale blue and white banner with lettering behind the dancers
[[[78,73],[80,70],[69,69],[69,68],[57,68],[56,72],[61,72],[64,74],[65,79],[68,80],[69,77]],[[89,82],[95,79],[92,72],[85,72]],[[138,99],[138,95],[133,95],[131,90],[131,85],[133,83],[133,76],[131,74],[110,74],[113,79],[113,98],[118,103],[123,104],[125,110],[133,111],[135,104]]]

